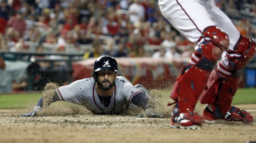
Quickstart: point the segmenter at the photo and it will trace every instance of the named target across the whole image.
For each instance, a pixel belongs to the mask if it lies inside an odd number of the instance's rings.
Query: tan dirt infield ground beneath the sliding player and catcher
[[[238,105],[255,110],[256,104]],[[56,109],[56,107],[52,107]],[[57,107],[58,108],[58,107]],[[197,106],[201,110],[202,105]],[[56,109],[59,110],[59,109]],[[205,123],[200,130],[172,129],[170,118],[138,118],[136,115],[92,115],[58,112],[58,116],[20,117],[27,110],[0,110],[1,143],[50,142],[189,142],[245,143],[256,141],[256,121]],[[256,111],[249,111],[254,119]],[[54,115],[54,112],[52,113]]]

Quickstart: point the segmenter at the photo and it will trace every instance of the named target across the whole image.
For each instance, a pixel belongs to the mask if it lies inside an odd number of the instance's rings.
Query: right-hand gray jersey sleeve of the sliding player
[[[130,83],[125,77],[119,79],[119,81],[123,82],[121,86],[121,94],[125,96],[127,100],[131,102],[131,99],[134,95],[142,92],[141,90],[137,89]],[[142,92],[143,93],[143,92]]]

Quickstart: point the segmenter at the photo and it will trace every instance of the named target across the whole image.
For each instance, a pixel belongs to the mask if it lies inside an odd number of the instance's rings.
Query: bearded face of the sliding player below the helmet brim
[[[99,71],[98,72],[98,86],[103,90],[109,90],[115,84],[115,71]]]

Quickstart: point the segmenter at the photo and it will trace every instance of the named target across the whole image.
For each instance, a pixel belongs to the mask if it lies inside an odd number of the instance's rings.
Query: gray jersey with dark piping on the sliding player
[[[57,88],[56,91],[61,100],[82,105],[95,114],[119,114],[130,107],[132,97],[142,91],[123,76],[117,76],[115,83],[108,107],[100,102],[92,77],[77,80]]]

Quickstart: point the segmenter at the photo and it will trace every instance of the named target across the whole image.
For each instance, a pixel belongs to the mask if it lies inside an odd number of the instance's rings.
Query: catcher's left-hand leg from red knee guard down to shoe
[[[199,95],[204,90],[216,61],[229,45],[228,36],[217,27],[204,29],[202,43],[193,53],[189,65],[181,70],[170,97],[176,105],[172,112],[171,127],[198,128],[204,119],[194,113]]]

